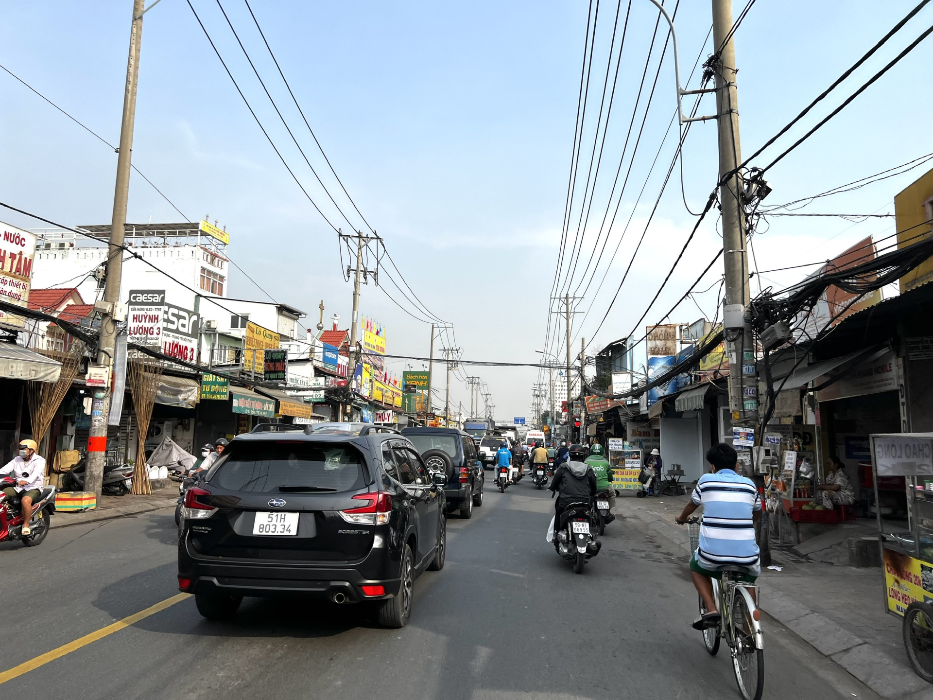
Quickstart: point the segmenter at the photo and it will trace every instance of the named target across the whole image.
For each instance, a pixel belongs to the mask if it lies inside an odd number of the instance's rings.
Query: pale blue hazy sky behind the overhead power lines
[[[284,105],[305,152],[341,208],[361,227],[351,215],[352,207],[337,197],[339,187],[332,177],[325,177],[326,163],[314,151],[294,106],[288,108],[287,92],[276,79],[244,3],[222,1],[261,75]],[[192,2],[314,201],[335,226],[350,229],[276,123],[216,2]],[[671,0],[666,5],[673,7]],[[756,3],[736,34],[745,153],[783,126],[912,5]],[[621,3],[623,16],[627,6]],[[737,3],[735,14],[743,6]],[[455,339],[447,339],[447,344],[461,347],[471,359],[535,361],[534,350],[544,343],[547,297],[564,216],[587,4],[255,0],[252,7],[355,203],[383,235],[402,273],[432,313],[455,324]],[[605,0],[600,4],[593,99],[602,88],[616,7]],[[606,209],[607,186],[618,164],[656,17],[644,0],[634,0],[632,7],[593,217]],[[129,0],[7,4],[0,27],[0,63],[116,143],[131,8]],[[833,93],[826,107],[816,109],[814,118],[782,143],[789,144],[838,105],[928,26],[931,17],[933,10],[922,11],[842,85],[838,96]],[[685,0],[678,9],[675,24],[685,78],[709,22],[708,2]],[[829,189],[933,151],[928,128],[933,97],[926,87],[931,46],[915,49],[775,166],[767,175],[774,189],[768,203]],[[651,65],[653,77],[655,63]],[[604,287],[595,296],[591,290],[582,302],[581,310],[592,304],[592,311],[574,329],[575,348],[580,335],[592,338],[605,314],[673,155],[675,133],[661,147],[658,169],[635,206],[673,114],[672,65],[668,54],[632,183],[620,206],[620,217],[633,215],[632,227],[607,268]],[[7,166],[0,175],[3,201],[66,224],[109,221],[115,154],[6,74],[0,73],[0,86]],[[704,101],[701,110],[708,113],[711,106]],[[598,105],[592,106],[596,109]],[[594,114],[591,111],[591,117]],[[230,256],[272,297],[312,314],[324,299],[326,315],[337,312],[344,321],[349,319],[352,290],[341,277],[336,234],[276,158],[184,0],[162,0],[146,14],[136,117],[133,162],[182,212],[195,219],[209,214],[226,224]],[[592,132],[587,133],[591,141],[585,143],[592,144]],[[684,150],[684,189],[696,211],[716,180],[715,126],[696,125]],[[828,198],[807,211],[891,212],[893,195],[924,170]],[[672,252],[686,240],[694,218],[685,210],[679,179],[675,180],[661,198],[619,301],[591,350],[633,329],[669,269]],[[134,177],[129,219],[149,217],[167,221],[178,214]],[[25,228],[40,225],[12,213],[0,213],[0,218]],[[615,231],[618,235],[620,229]],[[771,228],[754,239],[756,259],[761,269],[826,259],[866,235],[891,231],[893,222],[887,219],[853,225],[842,219],[774,218]],[[588,235],[592,242],[595,232]],[[658,320],[683,294],[717,244],[711,217],[647,321]],[[584,245],[584,258],[589,245]],[[615,239],[610,250],[614,245]],[[604,264],[608,261],[606,254]],[[700,308],[687,302],[673,320],[695,320],[700,309],[706,315],[715,313],[718,273],[715,269],[701,285],[714,287],[697,296]],[[787,285],[801,276],[799,271],[769,273],[764,284]],[[233,295],[264,298],[237,273],[231,279]],[[757,288],[753,282],[753,291]],[[413,311],[395,287],[389,284],[387,289]],[[365,287],[361,308],[387,329],[390,353],[427,353],[428,327],[400,311],[381,290]],[[406,364],[399,361],[394,367],[400,371]],[[528,414],[535,371],[465,367],[459,372],[466,374],[478,374],[490,385],[497,417]],[[455,400],[468,401],[468,391],[459,381],[452,394]]]

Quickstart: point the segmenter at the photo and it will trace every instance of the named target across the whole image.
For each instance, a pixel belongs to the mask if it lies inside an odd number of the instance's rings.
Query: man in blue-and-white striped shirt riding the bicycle
[[[693,622],[694,629],[715,627],[719,622],[710,579],[719,579],[724,567],[742,567],[745,574],[740,581],[754,582],[761,571],[755,539],[755,521],[761,516],[758,488],[735,472],[737,455],[731,445],[713,445],[706,452],[706,461],[713,472],[700,477],[692,502],[676,519],[683,525],[703,506],[700,546],[690,557],[690,575],[707,612]]]

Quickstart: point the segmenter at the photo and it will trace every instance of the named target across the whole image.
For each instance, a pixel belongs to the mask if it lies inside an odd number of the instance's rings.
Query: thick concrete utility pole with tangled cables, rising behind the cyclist
[[[731,0],[713,0],[713,44],[718,49],[716,66],[717,131],[719,142],[719,178],[733,173],[742,162],[739,138],[738,94],[735,84],[735,46],[725,41],[732,28]],[[748,257],[745,245],[745,205],[742,200],[742,175],[734,173],[719,188],[722,209],[722,243],[725,262],[725,300],[727,306],[749,302]],[[745,398],[745,368],[752,368],[749,385],[756,385],[754,376],[755,343],[751,322],[745,315],[742,329],[729,329],[729,409],[732,422],[750,425],[758,419],[758,400]],[[747,361],[746,361],[747,360]]]

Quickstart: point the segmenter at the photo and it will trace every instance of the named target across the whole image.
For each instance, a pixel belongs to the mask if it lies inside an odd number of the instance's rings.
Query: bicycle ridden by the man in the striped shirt
[[[690,538],[690,556],[700,542],[699,518],[687,521]],[[719,610],[717,626],[703,630],[703,646],[710,656],[716,656],[719,642],[725,638],[732,657],[732,670],[739,692],[745,700],[760,700],[764,692],[764,637],[761,633],[761,613],[755,601],[759,588],[754,583],[733,580],[745,573],[742,567],[726,567],[721,581],[713,579],[713,597]],[[706,613],[703,597],[700,614]]]

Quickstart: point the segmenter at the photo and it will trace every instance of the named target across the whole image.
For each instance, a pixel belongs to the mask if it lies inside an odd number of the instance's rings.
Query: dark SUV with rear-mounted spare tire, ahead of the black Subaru
[[[473,507],[482,505],[485,482],[473,438],[454,427],[406,427],[402,435],[414,443],[428,470],[447,476],[447,511],[459,511],[461,518],[472,517]]]

